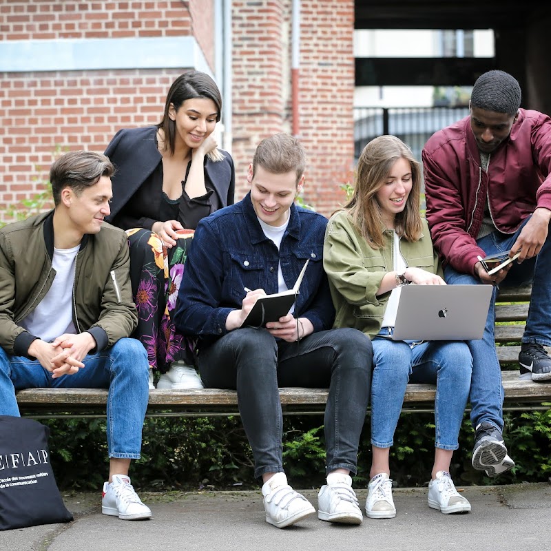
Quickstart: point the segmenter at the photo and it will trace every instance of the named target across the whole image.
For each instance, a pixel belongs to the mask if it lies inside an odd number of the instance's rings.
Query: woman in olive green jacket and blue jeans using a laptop
[[[389,450],[409,382],[437,384],[435,462],[428,505],[468,512],[450,477],[468,398],[472,357],[464,342],[404,342],[393,333],[402,285],[445,285],[426,221],[419,214],[421,169],[395,136],[368,143],[357,164],[354,194],[326,229],[324,269],[336,327],[355,327],[373,341],[371,482],[366,514],[395,517]]]

